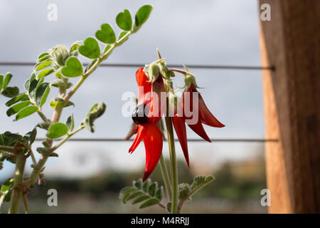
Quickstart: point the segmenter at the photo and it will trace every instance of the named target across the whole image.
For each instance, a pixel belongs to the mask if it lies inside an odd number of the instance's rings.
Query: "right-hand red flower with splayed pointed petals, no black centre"
[[[180,108],[181,113],[175,112],[172,122],[174,124],[174,129],[176,130],[176,135],[180,142],[181,148],[183,150],[183,155],[186,159],[187,164],[189,165],[188,157],[188,144],[186,139],[186,125],[188,124],[195,133],[197,133],[201,138],[211,142],[210,138],[206,134],[206,131],[203,128],[202,124],[208,125],[215,128],[223,128],[225,125],[220,123],[210,112],[206,103],[198,90],[196,90],[196,80],[191,74],[185,76],[185,90],[181,96]],[[195,96],[195,97],[194,97]],[[195,98],[195,99],[194,99]],[[193,103],[193,102],[197,103]],[[191,115],[186,115],[186,110],[190,111]],[[192,120],[192,121],[188,121]],[[190,123],[193,122],[193,123]]]

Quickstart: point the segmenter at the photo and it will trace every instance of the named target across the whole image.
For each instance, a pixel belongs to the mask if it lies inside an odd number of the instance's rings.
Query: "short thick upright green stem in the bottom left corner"
[[[16,153],[16,172],[14,177],[14,188],[11,193],[11,202],[9,214],[17,214],[20,207],[20,199],[22,197],[21,184],[23,182],[23,170],[26,164],[26,157],[23,155],[23,150],[18,150]]]

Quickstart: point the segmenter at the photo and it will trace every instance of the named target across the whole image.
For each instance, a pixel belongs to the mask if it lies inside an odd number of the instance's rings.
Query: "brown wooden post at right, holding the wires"
[[[270,213],[320,212],[320,1],[260,0]]]

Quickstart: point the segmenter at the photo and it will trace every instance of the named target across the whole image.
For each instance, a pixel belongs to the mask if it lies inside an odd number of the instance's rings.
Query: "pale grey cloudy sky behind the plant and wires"
[[[48,21],[49,4],[58,7],[58,20]],[[151,15],[139,32],[116,48],[106,63],[142,63],[156,60],[156,48],[171,64],[260,66],[259,7],[255,0],[203,1],[0,1],[0,61],[36,61],[40,53],[57,44],[70,46],[94,36],[101,24],[109,23],[119,33],[115,16],[124,9],[135,14],[144,4],[154,6]],[[87,58],[81,58],[87,63]],[[144,65],[142,65],[144,66]],[[225,128],[205,127],[210,138],[264,138],[261,71],[193,69],[200,92],[208,108]],[[14,75],[11,86],[23,90],[23,83],[33,71],[31,66],[0,66],[0,73]],[[124,138],[131,118],[122,116],[122,94],[137,94],[134,73],[137,68],[98,68],[73,96],[75,107],[65,108],[61,121],[71,113],[75,125],[85,117],[92,104],[105,101],[107,111],[96,122],[94,134],[82,130],[75,137]],[[180,78],[179,78],[180,77]],[[176,76],[182,86],[181,76]],[[53,76],[46,78],[53,80]],[[52,89],[49,98],[58,93]],[[0,96],[0,129],[26,133],[35,126],[37,115],[13,122],[6,116]],[[43,109],[50,116],[52,109]],[[38,130],[38,135],[46,134]],[[198,138],[188,130],[188,138]],[[39,145],[35,145],[37,147]],[[59,157],[48,161],[45,175],[85,177],[104,169],[138,169],[143,173],[144,147],[128,155],[130,142],[67,142],[58,150]],[[261,145],[251,143],[189,142],[191,168],[211,169],[225,160],[247,160],[257,155]],[[164,144],[164,155],[168,155]],[[178,157],[182,152],[177,145]],[[36,155],[38,157],[38,155]],[[204,168],[206,167],[206,168]],[[27,171],[30,164],[26,165]],[[0,180],[11,177],[14,166],[4,163]]]

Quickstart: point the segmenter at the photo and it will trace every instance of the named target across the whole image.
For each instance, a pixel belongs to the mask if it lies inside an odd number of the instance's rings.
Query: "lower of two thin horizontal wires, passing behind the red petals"
[[[43,141],[46,138],[37,138],[36,141]],[[257,139],[257,138],[212,138],[210,139],[212,142],[279,142],[277,139]],[[68,141],[82,141],[82,142],[126,142],[126,141],[133,141],[133,139],[125,140],[124,138],[70,138]],[[178,142],[178,139],[175,139]],[[202,139],[188,139],[188,142],[206,142]]]

